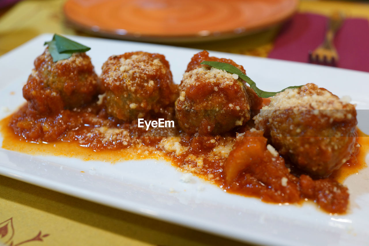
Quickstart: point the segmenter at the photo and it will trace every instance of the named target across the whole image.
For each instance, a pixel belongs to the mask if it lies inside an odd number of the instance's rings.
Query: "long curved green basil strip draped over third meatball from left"
[[[261,90],[258,87],[256,87],[256,83],[254,81],[252,81],[252,79],[250,79],[246,74],[241,72],[241,70],[239,70],[238,68],[236,68],[235,66],[233,66],[231,64],[224,63],[224,62],[215,62],[215,61],[203,61],[200,64],[205,64],[205,65],[212,66],[212,67],[220,69],[220,70],[225,70],[225,71],[230,72],[232,74],[237,74],[239,78],[243,79],[246,83],[248,83],[250,85],[250,87],[255,91],[256,95],[258,95],[260,98],[270,98],[271,96],[274,96],[277,93],[282,92],[286,89],[300,88],[302,86],[302,85],[289,86],[289,87],[284,88],[283,90],[281,90],[279,92],[267,92],[267,91]]]

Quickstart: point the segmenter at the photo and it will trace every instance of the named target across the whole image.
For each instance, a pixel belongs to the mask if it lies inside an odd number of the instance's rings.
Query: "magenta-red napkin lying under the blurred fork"
[[[317,14],[296,14],[275,40],[270,58],[308,62],[308,51],[320,45],[328,18]],[[339,68],[369,72],[369,23],[367,19],[346,18],[334,40]]]

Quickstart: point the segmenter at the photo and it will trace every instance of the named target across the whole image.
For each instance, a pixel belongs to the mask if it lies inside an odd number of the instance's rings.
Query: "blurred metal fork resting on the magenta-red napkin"
[[[325,33],[323,43],[313,52],[309,51],[310,63],[337,66],[339,57],[334,47],[333,40],[343,21],[344,15],[342,13],[336,12],[331,16],[328,21],[327,32]]]

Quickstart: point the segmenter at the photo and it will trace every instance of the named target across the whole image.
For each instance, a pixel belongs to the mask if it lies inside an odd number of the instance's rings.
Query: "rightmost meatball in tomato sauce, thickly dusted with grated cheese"
[[[355,106],[312,83],[273,96],[254,120],[280,154],[312,175],[328,176],[355,149]]]

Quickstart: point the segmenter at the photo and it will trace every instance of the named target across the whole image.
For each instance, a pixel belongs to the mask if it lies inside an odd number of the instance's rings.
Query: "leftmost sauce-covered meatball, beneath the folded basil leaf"
[[[100,92],[99,78],[86,53],[52,61],[48,48],[34,62],[23,96],[40,113],[58,112],[90,103]]]

